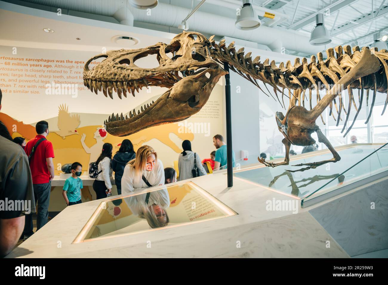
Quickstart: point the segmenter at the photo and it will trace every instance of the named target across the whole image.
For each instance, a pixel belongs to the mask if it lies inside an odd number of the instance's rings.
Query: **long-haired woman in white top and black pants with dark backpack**
[[[110,143],[104,143],[101,154],[96,161],[98,175],[93,182],[93,190],[96,192],[97,199],[106,198],[107,194],[112,192],[112,149],[113,146]]]

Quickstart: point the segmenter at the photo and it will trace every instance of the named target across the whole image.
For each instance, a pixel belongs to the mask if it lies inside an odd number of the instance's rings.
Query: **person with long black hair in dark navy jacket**
[[[117,193],[121,195],[121,178],[123,177],[125,165],[128,161],[135,159],[136,153],[129,139],[123,140],[120,149],[112,159],[112,169],[114,171],[114,181],[117,187]]]

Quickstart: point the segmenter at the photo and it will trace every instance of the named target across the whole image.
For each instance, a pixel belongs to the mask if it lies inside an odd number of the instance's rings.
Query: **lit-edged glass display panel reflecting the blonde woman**
[[[193,182],[163,185],[155,190],[102,202],[73,243],[233,215],[237,213]]]

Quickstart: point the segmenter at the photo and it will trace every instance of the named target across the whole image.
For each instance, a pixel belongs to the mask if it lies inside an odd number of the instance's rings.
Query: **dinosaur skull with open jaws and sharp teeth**
[[[105,122],[107,132],[127,136],[147,127],[185,120],[201,110],[218,79],[227,73],[210,57],[210,47],[202,34],[183,32],[175,36],[170,45],[157,43],[147,48],[109,51],[90,58],[85,64],[83,79],[85,86],[96,94],[99,90],[113,98],[114,90],[121,99],[122,94],[126,97],[127,91],[135,96],[135,91],[139,92],[143,87],[170,88],[141,113],[130,112],[128,118],[109,116]],[[145,69],[136,65],[137,59],[154,54],[158,67]],[[90,62],[100,57],[106,59],[89,70]]]

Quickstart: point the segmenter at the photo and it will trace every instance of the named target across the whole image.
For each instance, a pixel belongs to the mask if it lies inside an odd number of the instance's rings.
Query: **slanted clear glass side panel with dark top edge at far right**
[[[352,160],[353,165],[345,168],[336,177],[333,177],[333,179],[320,186],[317,190],[305,196],[301,201],[302,206],[312,199],[336,191],[346,185],[388,171],[388,143],[380,147],[371,147],[370,149],[373,149],[373,151],[369,155],[356,155]]]

